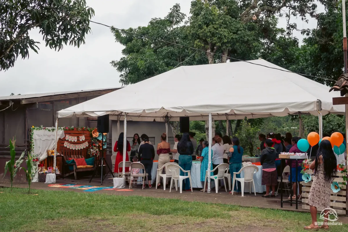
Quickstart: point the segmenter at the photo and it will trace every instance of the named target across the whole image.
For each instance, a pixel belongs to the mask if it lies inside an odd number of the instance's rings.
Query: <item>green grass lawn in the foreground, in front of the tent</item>
[[[0,188],[0,231],[303,231],[310,214],[176,199]],[[36,195],[37,194],[37,195]],[[330,231],[348,231],[348,225]]]

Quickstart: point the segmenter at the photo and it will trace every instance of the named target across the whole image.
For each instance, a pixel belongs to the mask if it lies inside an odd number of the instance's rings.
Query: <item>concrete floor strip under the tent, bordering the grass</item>
[[[109,176],[108,176],[109,177]],[[110,177],[112,177],[110,175]],[[99,187],[108,187],[113,186],[112,180],[105,178],[103,185],[101,185],[100,178],[94,178],[91,183],[89,180],[84,179],[57,179],[56,184],[76,184],[76,185],[93,185]],[[64,190],[64,191],[76,191],[83,192],[81,189],[69,189],[69,188],[61,188],[61,187],[49,187],[49,184],[45,184],[44,182],[34,182],[31,184],[32,189],[43,189],[43,190]],[[0,182],[0,187],[9,187],[10,183],[8,182]],[[27,188],[27,183],[14,183],[14,187]],[[219,189],[218,193],[215,193],[215,190],[211,193],[201,192],[199,190],[193,190],[193,192],[183,191],[180,194],[180,191],[175,191],[175,188],[169,192],[169,188],[166,190],[156,189],[155,186],[152,188],[142,188],[140,185],[136,188],[132,188],[132,191],[124,191],[128,190],[128,186],[126,189],[112,189],[112,190],[98,190],[94,192],[86,192],[86,193],[106,193],[106,194],[114,194],[114,195],[138,195],[144,197],[158,197],[158,198],[172,198],[172,199],[181,199],[185,201],[200,201],[200,202],[209,202],[209,203],[222,203],[222,204],[230,204],[230,205],[239,205],[244,207],[259,207],[259,208],[268,208],[268,209],[282,209],[282,210],[290,210],[290,211],[299,211],[299,212],[309,212],[309,210],[302,209],[302,204],[299,204],[298,209],[295,209],[295,204],[290,206],[289,203],[284,203],[283,208],[280,208],[280,194],[277,195],[276,198],[263,198],[262,194],[256,193],[244,193],[244,197],[242,195],[231,195],[229,192],[225,192],[224,188]],[[283,195],[285,198],[286,196]],[[348,223],[348,217],[340,216],[340,221],[343,223]]]

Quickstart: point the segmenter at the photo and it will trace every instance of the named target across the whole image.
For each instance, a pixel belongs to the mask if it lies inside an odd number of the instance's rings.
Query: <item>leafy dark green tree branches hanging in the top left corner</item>
[[[71,15],[77,16],[73,17]],[[29,57],[29,49],[38,53],[38,41],[29,31],[40,29],[46,47],[58,51],[63,44],[79,47],[90,32],[89,19],[94,10],[85,0],[7,0],[0,4],[0,70],[13,67],[20,55]]]

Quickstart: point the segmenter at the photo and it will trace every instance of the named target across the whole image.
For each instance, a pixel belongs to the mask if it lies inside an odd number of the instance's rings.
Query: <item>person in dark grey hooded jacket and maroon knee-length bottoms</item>
[[[274,149],[273,142],[271,139],[266,139],[264,142],[265,148],[261,152],[261,165],[262,165],[262,185],[266,185],[266,194],[262,197],[269,197],[269,187],[272,186],[272,195],[271,197],[275,197],[274,193],[276,190],[276,186],[278,184],[278,176],[276,169],[276,157],[277,151]]]

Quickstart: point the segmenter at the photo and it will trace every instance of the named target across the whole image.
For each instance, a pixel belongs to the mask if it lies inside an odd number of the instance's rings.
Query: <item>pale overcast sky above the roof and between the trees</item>
[[[95,10],[93,21],[127,29],[146,26],[151,18],[163,18],[169,9],[179,3],[181,11],[190,15],[190,0],[86,0],[87,6]],[[323,6],[318,7],[322,12]],[[315,28],[316,20],[304,23],[300,18],[293,19],[299,29]],[[286,19],[280,18],[278,26],[285,27]],[[80,48],[64,46],[61,51],[45,47],[39,30],[31,30],[29,35],[38,45],[39,54],[29,51],[29,59],[18,57],[15,66],[0,72],[0,96],[11,93],[34,94],[56,91],[74,91],[122,86],[119,73],[111,66],[112,60],[122,57],[124,48],[115,42],[110,28],[90,23],[92,33],[86,35],[85,45]],[[303,36],[294,32],[300,42]]]

